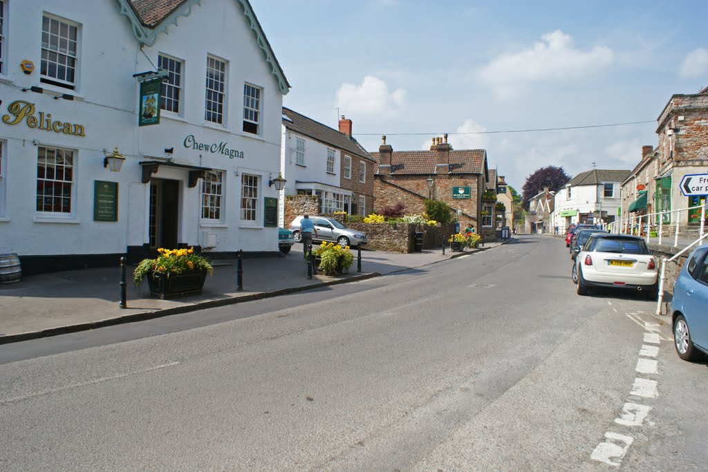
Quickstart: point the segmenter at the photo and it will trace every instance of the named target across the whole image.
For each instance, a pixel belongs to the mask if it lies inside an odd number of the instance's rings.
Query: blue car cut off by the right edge
[[[670,313],[678,357],[691,361],[708,354],[708,246],[695,249],[681,268]]]

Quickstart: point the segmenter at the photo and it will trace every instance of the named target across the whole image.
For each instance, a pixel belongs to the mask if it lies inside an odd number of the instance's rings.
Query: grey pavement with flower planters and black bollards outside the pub
[[[289,254],[242,260],[243,290],[236,289],[236,260],[215,260],[214,274],[204,284],[202,294],[193,297],[161,300],[151,297],[147,282],[132,283],[127,266],[127,308],[121,309],[120,267],[67,270],[23,277],[15,284],[0,284],[0,344],[77,331],[91,330],[120,323],[132,323],[161,316],[187,313],[215,306],[278,297],[293,292],[386,275],[401,270],[439,263],[461,255],[488,251],[513,241],[485,243],[484,248],[452,252],[448,246],[421,253],[392,253],[364,249],[361,272],[357,254],[348,274],[328,277],[318,272],[307,279],[307,265],[302,246],[295,245]]]

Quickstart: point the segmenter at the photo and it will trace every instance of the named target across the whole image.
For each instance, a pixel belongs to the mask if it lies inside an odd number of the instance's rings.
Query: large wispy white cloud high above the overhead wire
[[[576,49],[573,38],[561,30],[546,33],[519,52],[502,54],[479,69],[479,80],[492,88],[500,98],[513,98],[533,82],[578,79],[590,71],[612,64],[609,47],[592,50]]]

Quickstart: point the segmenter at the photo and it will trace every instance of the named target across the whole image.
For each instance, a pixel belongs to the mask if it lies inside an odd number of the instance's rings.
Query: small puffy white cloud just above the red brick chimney
[[[375,76],[365,76],[361,85],[342,84],[335,105],[349,115],[389,115],[402,110],[405,104],[405,90],[397,88],[389,92],[386,82]]]

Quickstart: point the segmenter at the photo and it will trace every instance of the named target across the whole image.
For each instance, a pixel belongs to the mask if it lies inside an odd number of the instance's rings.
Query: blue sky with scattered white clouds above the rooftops
[[[632,169],[673,93],[708,86],[708,1],[253,0],[292,86],[283,104],[368,151],[487,150],[537,168]],[[650,123],[590,129],[474,134]]]

